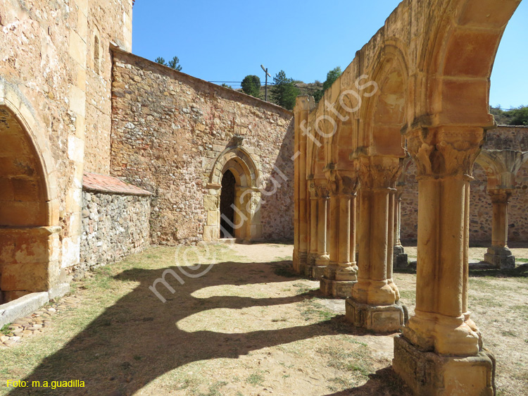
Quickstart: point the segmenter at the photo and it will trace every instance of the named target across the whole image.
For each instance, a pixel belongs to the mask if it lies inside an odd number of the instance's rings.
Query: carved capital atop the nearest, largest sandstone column
[[[408,151],[420,176],[472,175],[484,128],[418,125],[406,132]]]

